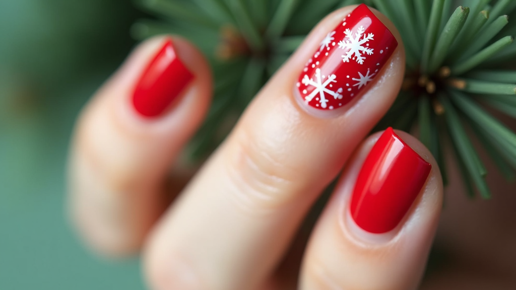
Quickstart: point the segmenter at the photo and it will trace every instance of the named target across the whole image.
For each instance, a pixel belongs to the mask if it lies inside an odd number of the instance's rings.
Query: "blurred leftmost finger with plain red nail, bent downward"
[[[70,211],[93,248],[136,251],[163,212],[174,158],[204,118],[208,65],[192,44],[141,44],[80,115],[70,157]]]

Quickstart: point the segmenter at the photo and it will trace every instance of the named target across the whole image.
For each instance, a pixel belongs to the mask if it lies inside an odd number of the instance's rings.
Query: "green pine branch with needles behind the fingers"
[[[159,20],[141,20],[132,35],[179,34],[206,54],[215,76],[211,110],[190,143],[194,158],[227,136],[257,91],[331,11],[373,6],[398,28],[406,76],[397,100],[375,130],[393,126],[418,136],[447,183],[453,152],[467,194],[490,198],[472,139],[507,180],[516,179],[516,134],[485,106],[516,118],[514,0],[137,0]],[[454,6],[457,5],[457,6]],[[459,6],[461,5],[461,6]],[[449,146],[451,144],[451,146]],[[446,154],[448,156],[449,154]]]

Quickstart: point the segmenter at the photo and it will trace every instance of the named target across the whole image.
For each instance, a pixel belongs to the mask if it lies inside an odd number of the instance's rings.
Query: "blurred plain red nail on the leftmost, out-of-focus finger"
[[[193,79],[167,40],[136,85],[133,105],[144,117],[156,117],[169,107]]]

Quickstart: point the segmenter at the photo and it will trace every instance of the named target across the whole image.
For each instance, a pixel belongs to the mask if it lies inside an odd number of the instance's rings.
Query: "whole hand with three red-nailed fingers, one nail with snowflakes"
[[[181,38],[141,44],[76,126],[70,211],[87,244],[111,256],[142,250],[156,290],[415,289],[442,208],[441,175],[413,136],[366,137],[396,98],[405,53],[388,19],[353,8],[313,29],[185,188],[169,169],[206,114],[212,76]],[[370,45],[344,55],[350,44],[337,34]],[[329,56],[316,65],[314,52]],[[312,95],[318,77],[327,90]],[[296,236],[339,174],[313,231]]]

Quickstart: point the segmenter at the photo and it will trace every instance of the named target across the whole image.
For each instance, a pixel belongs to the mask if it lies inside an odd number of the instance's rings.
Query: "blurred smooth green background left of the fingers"
[[[75,117],[135,45],[127,0],[0,1],[0,289],[143,289],[138,261],[89,253],[67,223]]]

